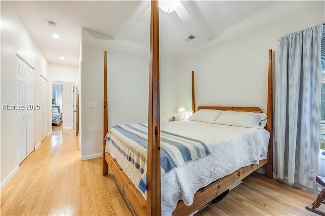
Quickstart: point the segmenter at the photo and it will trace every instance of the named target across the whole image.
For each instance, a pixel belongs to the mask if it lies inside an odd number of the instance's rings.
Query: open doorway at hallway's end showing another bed
[[[63,129],[63,85],[52,85],[52,133],[61,133]]]

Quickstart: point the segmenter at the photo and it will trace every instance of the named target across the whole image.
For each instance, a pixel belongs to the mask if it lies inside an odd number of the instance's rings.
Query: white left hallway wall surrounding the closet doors
[[[1,1],[1,104],[17,104],[16,89],[16,54],[18,53],[35,68],[35,92],[38,77],[47,77],[47,60],[23,25],[12,2]],[[35,102],[39,95],[35,94]],[[17,164],[17,112],[1,110],[1,187],[3,187],[15,170]],[[39,129],[39,118],[35,113],[35,143]]]

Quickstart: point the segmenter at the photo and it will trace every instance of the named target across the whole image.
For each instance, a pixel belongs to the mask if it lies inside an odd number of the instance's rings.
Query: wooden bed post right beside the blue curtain
[[[268,163],[266,164],[266,177],[273,178],[273,71],[272,71],[272,50],[269,50],[269,76],[268,76],[268,106],[267,106],[267,124],[266,129],[270,133],[268,147]]]

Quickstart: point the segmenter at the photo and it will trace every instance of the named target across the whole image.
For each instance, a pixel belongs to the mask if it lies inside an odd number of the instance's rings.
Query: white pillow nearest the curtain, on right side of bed
[[[220,125],[232,125],[239,127],[264,128],[267,115],[265,113],[224,111],[214,122]]]

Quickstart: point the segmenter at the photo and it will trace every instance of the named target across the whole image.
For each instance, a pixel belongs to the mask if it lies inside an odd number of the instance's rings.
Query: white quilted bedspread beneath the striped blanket
[[[267,156],[270,134],[265,129],[209,124],[197,121],[161,122],[161,130],[201,140],[211,155],[177,167],[161,178],[161,213],[171,215],[178,200],[193,203],[194,194],[237,169],[259,163]],[[134,185],[141,173],[114,149],[105,149],[119,163]],[[139,192],[141,192],[139,190]],[[146,195],[142,193],[144,198]]]

